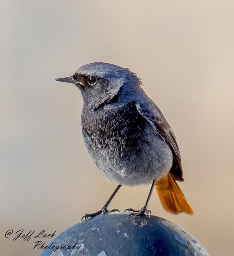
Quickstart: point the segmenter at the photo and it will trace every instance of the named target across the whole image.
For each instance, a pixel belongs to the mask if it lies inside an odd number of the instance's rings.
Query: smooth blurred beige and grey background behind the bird
[[[116,187],[86,152],[80,92],[54,81],[95,61],[136,72],[176,134],[194,216],[165,212],[156,192],[152,213],[233,255],[234,2],[3,0],[0,21],[1,255],[39,255],[4,234],[58,235]],[[124,187],[110,208],[138,209],[149,189]]]

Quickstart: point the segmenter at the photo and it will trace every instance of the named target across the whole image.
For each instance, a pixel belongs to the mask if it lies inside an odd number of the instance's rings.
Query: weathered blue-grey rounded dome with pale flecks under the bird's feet
[[[101,214],[79,222],[50,242],[55,247],[44,249],[40,256],[209,256],[196,238],[168,220],[127,217]]]

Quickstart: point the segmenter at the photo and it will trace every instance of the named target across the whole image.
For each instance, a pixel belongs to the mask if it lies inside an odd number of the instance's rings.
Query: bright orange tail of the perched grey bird
[[[156,181],[156,188],[162,206],[166,211],[174,214],[179,214],[180,212],[193,214],[192,208],[171,172]]]

